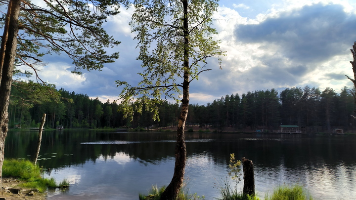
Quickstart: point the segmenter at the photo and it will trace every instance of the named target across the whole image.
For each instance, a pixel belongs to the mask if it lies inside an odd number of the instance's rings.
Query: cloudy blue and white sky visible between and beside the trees
[[[226,94],[286,87],[352,87],[350,48],[356,41],[355,0],[221,0],[214,27],[226,51],[222,68],[212,70],[190,85],[190,103],[206,104]],[[116,100],[121,92],[115,80],[136,84],[142,71],[138,50],[128,25],[133,9],[107,20],[105,28],[122,43],[120,58],[102,71],[71,74],[65,57],[46,57],[41,78],[76,93]],[[67,62],[66,62],[67,61]]]

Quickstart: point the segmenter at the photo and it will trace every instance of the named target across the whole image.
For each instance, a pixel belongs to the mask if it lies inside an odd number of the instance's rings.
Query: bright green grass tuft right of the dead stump
[[[312,196],[299,184],[290,187],[284,185],[275,189],[271,197],[266,195],[265,200],[312,200]]]

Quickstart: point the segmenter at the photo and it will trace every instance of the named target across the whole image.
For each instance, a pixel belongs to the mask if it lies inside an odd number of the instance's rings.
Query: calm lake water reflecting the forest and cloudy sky
[[[170,183],[175,139],[175,132],[46,131],[38,163],[45,176],[70,182],[48,199],[137,200]],[[30,159],[36,146],[37,132],[11,131],[5,158]],[[207,200],[219,197],[214,185],[227,176],[230,153],[253,160],[262,198],[298,182],[317,200],[356,199],[356,135],[187,133],[186,146],[187,188]]]

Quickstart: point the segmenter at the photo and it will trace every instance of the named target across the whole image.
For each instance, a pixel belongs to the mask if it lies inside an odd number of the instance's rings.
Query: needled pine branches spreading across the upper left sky
[[[45,54],[65,53],[75,64],[73,73],[81,69],[100,70],[104,63],[114,62],[118,52],[106,48],[120,42],[102,28],[106,18],[119,13],[116,1],[110,0],[23,0],[20,4],[16,64],[27,65],[37,76],[37,65]],[[1,8],[8,1],[1,0]],[[5,13],[5,10],[2,10]],[[3,16],[0,19],[4,26]]]

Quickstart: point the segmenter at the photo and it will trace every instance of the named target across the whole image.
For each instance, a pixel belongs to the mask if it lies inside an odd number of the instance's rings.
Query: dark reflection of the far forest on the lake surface
[[[27,155],[35,154],[37,137],[36,131],[10,131],[5,141],[5,158],[30,159]],[[175,139],[175,132],[45,131],[40,155],[49,160],[38,163],[44,168],[57,168],[95,162],[100,157],[110,160],[124,153],[144,165],[160,164],[174,158]],[[286,169],[313,170],[326,165],[328,170],[337,170],[340,163],[346,168],[356,164],[353,135],[192,132],[186,134],[185,140],[188,159],[211,157],[213,162],[226,166],[230,153],[235,153],[238,159],[253,160],[256,168],[281,165]],[[95,143],[98,141],[107,144]],[[129,142],[125,144],[125,141]]]

